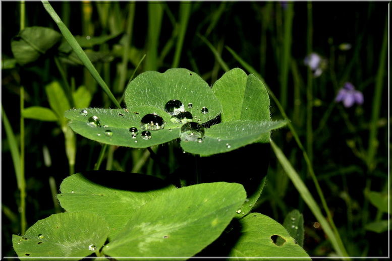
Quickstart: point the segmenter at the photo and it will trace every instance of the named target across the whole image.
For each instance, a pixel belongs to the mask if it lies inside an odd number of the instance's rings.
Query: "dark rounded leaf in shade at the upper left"
[[[11,41],[14,57],[21,65],[37,60],[57,44],[62,35],[53,29],[33,26],[20,31]]]

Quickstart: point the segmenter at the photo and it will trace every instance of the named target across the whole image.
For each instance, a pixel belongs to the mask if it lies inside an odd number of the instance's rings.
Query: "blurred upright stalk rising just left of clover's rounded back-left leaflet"
[[[123,62],[121,63],[120,69],[120,81],[119,86],[117,87],[117,92],[123,92],[125,88],[125,81],[127,78],[127,68],[129,62],[129,50],[131,48],[131,40],[132,40],[132,30],[133,30],[133,21],[135,19],[135,3],[129,4],[129,14],[127,21],[127,38],[125,40],[124,54],[123,54]]]

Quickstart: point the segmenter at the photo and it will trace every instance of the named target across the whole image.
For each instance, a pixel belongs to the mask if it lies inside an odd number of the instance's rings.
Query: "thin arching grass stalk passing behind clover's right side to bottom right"
[[[257,77],[259,77],[259,79],[264,83],[264,85],[265,85],[267,91],[269,92],[269,96],[271,96],[271,98],[272,98],[273,101],[275,102],[275,104],[276,104],[277,108],[279,109],[279,111],[281,112],[282,116],[283,116],[285,119],[288,119],[288,120],[289,120],[289,118],[287,117],[286,112],[285,112],[284,109],[282,108],[281,103],[279,103],[279,101],[277,100],[276,96],[273,94],[273,92],[271,91],[271,89],[270,89],[270,88],[268,87],[268,85],[265,83],[265,81],[264,81],[264,79],[261,77],[261,75],[259,75],[259,74],[257,73],[257,71],[256,71],[253,67],[251,67],[247,62],[245,62],[240,56],[238,56],[238,54],[237,54],[236,52],[234,52],[234,50],[232,50],[232,49],[229,48],[228,46],[226,46],[226,48],[232,53],[232,55],[235,57],[235,59],[238,60],[238,61],[241,63],[241,65],[245,68],[245,70],[247,70],[248,72],[254,74],[254,75],[257,76]],[[297,144],[298,144],[298,147],[299,147],[299,148],[301,149],[301,151],[302,151],[303,157],[304,157],[305,162],[306,162],[306,164],[307,164],[307,166],[308,166],[309,174],[310,174],[310,176],[312,177],[313,183],[314,183],[314,185],[315,185],[315,187],[316,187],[317,193],[318,193],[318,195],[319,195],[319,197],[320,197],[322,206],[323,206],[323,208],[324,208],[324,210],[325,210],[325,212],[326,212],[326,214],[327,214],[328,220],[329,220],[329,222],[330,222],[330,224],[331,224],[331,226],[332,226],[332,229],[333,229],[333,231],[334,231],[334,234],[335,234],[338,238],[340,238],[338,229],[337,229],[336,226],[334,225],[334,222],[333,222],[333,219],[332,219],[332,215],[330,214],[330,211],[329,211],[329,208],[328,208],[328,206],[327,206],[327,204],[326,204],[324,195],[323,195],[322,190],[321,190],[321,188],[320,188],[320,185],[319,185],[319,183],[318,183],[318,181],[317,181],[317,177],[316,177],[316,175],[315,175],[315,173],[314,173],[314,171],[313,171],[312,163],[310,162],[310,159],[309,159],[309,157],[308,157],[308,154],[306,153],[306,151],[305,151],[305,149],[304,149],[304,147],[303,147],[303,145],[302,145],[302,143],[301,143],[301,141],[300,141],[300,139],[299,139],[299,136],[298,136],[298,134],[297,134],[297,132],[296,132],[296,130],[295,130],[293,124],[290,122],[290,120],[288,121],[288,124],[287,124],[287,125],[288,125],[288,127],[290,128],[290,130],[291,130],[291,132],[292,132],[292,134],[293,134],[293,137],[294,137],[295,141],[296,141]]]

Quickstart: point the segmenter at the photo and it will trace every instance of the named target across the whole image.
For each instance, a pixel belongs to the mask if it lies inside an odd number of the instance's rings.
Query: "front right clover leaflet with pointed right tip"
[[[181,147],[189,153],[209,156],[233,151],[255,142],[269,143],[270,130],[283,127],[286,123],[286,120],[232,120],[221,122],[205,129],[205,138],[202,143],[182,140]],[[265,134],[268,134],[268,136]]]

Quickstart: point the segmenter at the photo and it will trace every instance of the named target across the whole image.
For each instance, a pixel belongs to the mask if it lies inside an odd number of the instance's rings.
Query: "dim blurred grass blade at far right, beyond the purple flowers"
[[[382,41],[382,47],[380,52],[380,61],[376,76],[375,82],[375,90],[374,90],[374,97],[372,103],[372,116],[370,119],[370,132],[369,132],[369,148],[367,153],[367,167],[370,172],[372,172],[376,166],[375,163],[375,155],[378,147],[377,142],[377,121],[380,117],[380,108],[381,108],[381,96],[382,96],[382,88],[384,86],[384,74],[385,74],[385,64],[386,64],[386,57],[387,57],[387,46],[388,46],[388,20],[385,23],[384,29],[384,39]]]

